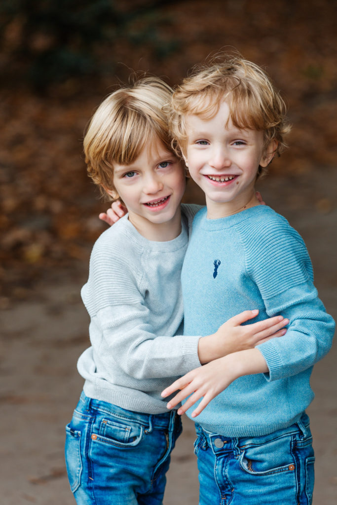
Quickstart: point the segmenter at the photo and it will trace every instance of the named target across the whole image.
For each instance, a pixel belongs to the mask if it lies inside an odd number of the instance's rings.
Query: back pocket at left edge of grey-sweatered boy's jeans
[[[75,492],[81,483],[82,458],[81,458],[81,432],[73,430],[70,425],[66,426],[66,466],[69,484],[72,492]]]

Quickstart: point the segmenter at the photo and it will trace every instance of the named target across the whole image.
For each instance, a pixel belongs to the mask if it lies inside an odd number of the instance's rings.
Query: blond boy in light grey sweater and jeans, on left
[[[85,382],[66,428],[81,505],[162,503],[181,424],[161,390],[200,364],[283,335],[287,324],[277,316],[241,326],[258,314],[249,310],[205,338],[182,334],[180,272],[198,208],[180,205],[185,170],[164,112],[171,92],[156,78],[116,90],[84,138],[90,177],[128,214],[94,244],[81,291],[91,346],[78,360]]]

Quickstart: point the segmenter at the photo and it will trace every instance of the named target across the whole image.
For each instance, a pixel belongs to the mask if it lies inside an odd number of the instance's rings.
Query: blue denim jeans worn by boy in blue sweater
[[[314,451],[309,418],[260,437],[228,438],[197,427],[199,505],[309,505]]]

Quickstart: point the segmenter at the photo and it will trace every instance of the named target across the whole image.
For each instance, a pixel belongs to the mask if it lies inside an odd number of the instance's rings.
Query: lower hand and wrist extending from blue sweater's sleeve
[[[203,397],[198,407],[192,412],[191,417],[196,417],[215,396],[238,377],[266,372],[268,372],[267,363],[258,349],[233,352],[233,354],[191,370],[167,387],[162,392],[162,397],[165,398],[180,389],[167,404],[167,408],[172,409],[188,396],[184,405],[178,409],[179,415],[184,414]]]

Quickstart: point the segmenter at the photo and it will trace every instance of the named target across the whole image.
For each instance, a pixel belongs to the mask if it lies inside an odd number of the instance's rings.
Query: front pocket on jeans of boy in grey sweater
[[[99,433],[92,434],[92,440],[98,440],[117,447],[134,447],[138,445],[144,435],[144,428],[140,423],[125,420],[104,418],[101,421]]]

